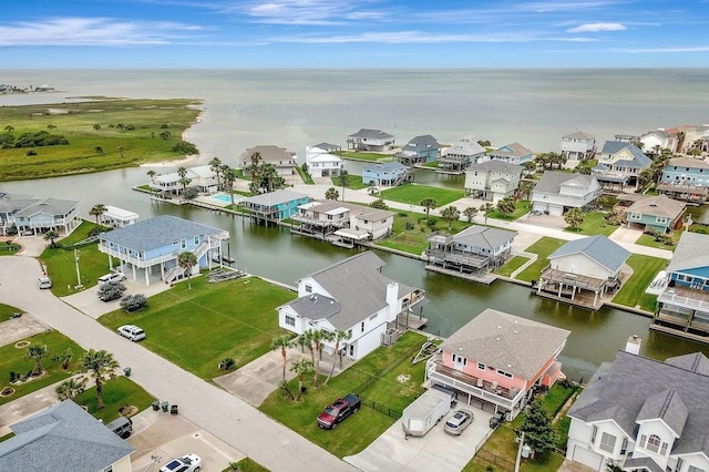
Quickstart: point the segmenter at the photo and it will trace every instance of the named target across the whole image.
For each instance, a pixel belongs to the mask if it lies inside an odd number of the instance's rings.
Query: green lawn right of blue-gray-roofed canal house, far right
[[[623,284],[613,301],[626,307],[639,307],[647,311],[655,311],[657,296],[646,294],[645,289],[650,285],[657,273],[665,268],[667,260],[633,254],[628,257],[628,265],[633,267],[633,276]]]

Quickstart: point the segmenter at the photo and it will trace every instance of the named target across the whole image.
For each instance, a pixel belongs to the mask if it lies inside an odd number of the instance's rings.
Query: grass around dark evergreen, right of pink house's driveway
[[[574,392],[573,388],[562,387],[558,382],[555,383],[549,391],[544,396],[544,406],[552,417],[557,410],[562,408],[566,399]],[[569,422],[563,417],[554,425],[559,437],[557,444],[565,447],[566,438],[568,437]],[[514,459],[517,455],[517,443],[515,442],[516,433],[514,429],[521,428],[524,423],[524,413],[517,415],[511,423],[503,423],[495,432],[490,437],[485,444],[481,449],[481,453],[475,455],[463,469],[464,472],[477,472],[487,471],[489,466],[493,466],[493,470],[505,470],[501,466],[495,468],[494,464],[483,459],[490,458],[490,455],[496,455],[504,459],[514,465]],[[543,472],[555,471],[564,461],[564,456],[558,452],[551,452],[542,455],[537,455],[534,461],[524,460],[521,465],[522,471],[526,472]]]

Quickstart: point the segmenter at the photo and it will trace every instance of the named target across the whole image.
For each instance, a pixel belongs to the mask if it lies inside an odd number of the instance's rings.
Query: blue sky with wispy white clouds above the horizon
[[[709,0],[3,0],[4,69],[709,66]]]

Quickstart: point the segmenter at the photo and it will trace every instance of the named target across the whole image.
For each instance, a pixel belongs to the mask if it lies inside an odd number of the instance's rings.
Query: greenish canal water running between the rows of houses
[[[167,214],[228,229],[232,235],[230,254],[236,257],[240,269],[290,285],[353,254],[320,240],[291,235],[287,228],[257,226],[238,216],[189,206],[152,203],[146,194],[129,191],[146,182],[145,172],[145,168],[125,168],[8,182],[0,184],[0,189],[47,195],[47,189],[51,188],[54,197],[80,201],[84,215],[93,205],[103,203],[136,212],[141,218]],[[650,320],[638,315],[608,308],[590,311],[571,307],[537,297],[530,288],[516,284],[499,280],[491,286],[479,285],[429,273],[420,260],[384,252],[378,254],[387,263],[383,268],[387,276],[425,289],[430,304],[424,308],[424,316],[429,319],[427,330],[431,334],[450,336],[485,308],[571,330],[561,360],[564,372],[574,379],[588,379],[602,362],[614,359],[615,352],[625,347],[631,335],[643,338],[640,353],[644,356],[665,359],[697,350],[709,355],[709,347],[705,345],[649,331]]]

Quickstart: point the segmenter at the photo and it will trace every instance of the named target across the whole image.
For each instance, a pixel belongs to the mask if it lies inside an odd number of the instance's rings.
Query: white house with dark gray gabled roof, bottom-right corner
[[[709,359],[696,352],[661,362],[638,356],[638,343],[628,348],[600,366],[568,410],[566,458],[597,471],[610,463],[709,471]]]

